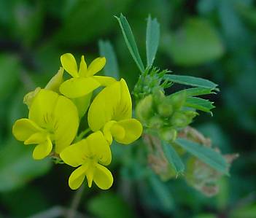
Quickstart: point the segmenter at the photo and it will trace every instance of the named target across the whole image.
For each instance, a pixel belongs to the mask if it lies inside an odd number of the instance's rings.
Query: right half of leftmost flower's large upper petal
[[[77,107],[65,96],[59,96],[53,112],[55,152],[59,154],[77,135],[79,117]]]

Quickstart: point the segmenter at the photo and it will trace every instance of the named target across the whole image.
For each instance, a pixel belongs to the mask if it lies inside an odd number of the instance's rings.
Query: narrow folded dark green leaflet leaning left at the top
[[[133,60],[137,64],[141,73],[143,73],[144,65],[141,61],[141,56],[139,55],[139,50],[135,42],[133,32],[131,31],[131,27],[128,21],[126,20],[125,16],[123,16],[122,14],[120,15],[120,17],[117,17],[117,16],[115,17],[117,18],[118,23],[120,24],[120,28],[122,29],[122,32],[123,32],[123,37],[125,38],[125,42],[128,47],[128,50],[131,53],[131,56],[133,57]]]

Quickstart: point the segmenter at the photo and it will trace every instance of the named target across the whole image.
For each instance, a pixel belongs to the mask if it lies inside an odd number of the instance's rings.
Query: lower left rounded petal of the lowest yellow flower
[[[73,173],[69,176],[69,187],[71,190],[77,190],[82,182],[85,179],[85,171],[87,170],[88,165],[83,165],[73,171]]]

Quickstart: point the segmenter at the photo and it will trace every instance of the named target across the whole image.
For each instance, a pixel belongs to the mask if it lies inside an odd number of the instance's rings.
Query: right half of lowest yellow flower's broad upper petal
[[[95,157],[103,165],[111,163],[111,150],[101,131],[91,133],[85,140],[88,143],[88,155],[90,157]]]

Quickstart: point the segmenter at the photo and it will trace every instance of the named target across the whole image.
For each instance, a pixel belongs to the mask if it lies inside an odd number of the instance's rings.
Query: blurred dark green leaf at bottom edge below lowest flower
[[[134,217],[128,204],[119,195],[112,192],[96,195],[96,197],[90,199],[87,208],[94,215],[93,217],[98,218]]]

